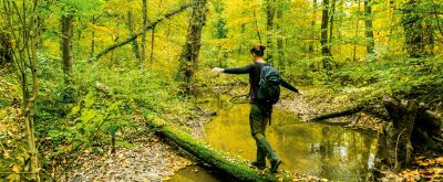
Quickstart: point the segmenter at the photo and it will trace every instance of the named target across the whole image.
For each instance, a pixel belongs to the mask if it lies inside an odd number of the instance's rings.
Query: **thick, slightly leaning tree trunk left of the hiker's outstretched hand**
[[[202,32],[206,22],[206,1],[196,0],[193,7],[192,17],[189,19],[189,28],[187,31],[186,43],[179,58],[178,72],[175,79],[184,82],[187,94],[190,94],[194,72],[198,64],[198,54],[200,51]]]

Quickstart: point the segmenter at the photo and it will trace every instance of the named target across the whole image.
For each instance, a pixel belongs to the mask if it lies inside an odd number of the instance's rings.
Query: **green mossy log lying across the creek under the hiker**
[[[146,114],[145,114],[146,116]],[[240,181],[279,181],[275,174],[268,172],[261,174],[259,171],[250,168],[246,160],[234,157],[227,152],[216,150],[202,140],[194,138],[187,132],[184,132],[171,125],[165,120],[147,116],[150,126],[154,129],[155,133],[159,137],[167,138],[175,144],[195,156],[202,162],[209,164]],[[284,173],[284,181],[291,181],[289,173]]]

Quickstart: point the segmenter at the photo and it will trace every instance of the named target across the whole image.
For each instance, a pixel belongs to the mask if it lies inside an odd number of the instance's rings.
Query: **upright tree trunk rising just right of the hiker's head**
[[[274,17],[276,15],[276,1],[266,0],[266,46],[267,46],[267,58],[266,61],[270,64],[274,63]]]

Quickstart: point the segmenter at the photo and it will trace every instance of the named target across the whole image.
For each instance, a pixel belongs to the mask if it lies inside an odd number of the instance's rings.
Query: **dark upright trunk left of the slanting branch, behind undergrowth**
[[[72,69],[72,14],[62,15],[62,60],[66,78],[70,77]]]

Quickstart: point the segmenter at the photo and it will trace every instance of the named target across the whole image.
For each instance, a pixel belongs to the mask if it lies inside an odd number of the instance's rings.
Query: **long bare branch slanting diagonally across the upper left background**
[[[147,31],[150,31],[151,29],[155,28],[155,25],[157,25],[157,24],[158,24],[159,22],[162,22],[163,20],[169,19],[171,17],[173,17],[173,15],[175,15],[175,14],[178,14],[178,13],[185,11],[186,9],[188,9],[188,8],[193,7],[193,6],[194,6],[194,3],[187,3],[187,4],[184,4],[184,6],[179,7],[179,8],[176,9],[176,10],[173,10],[173,11],[166,13],[164,17],[158,18],[157,20],[153,21],[151,24],[148,24],[147,26],[145,26],[142,31],[140,31],[140,32],[137,32],[137,33],[131,35],[128,39],[126,39],[126,40],[124,40],[124,41],[122,41],[122,42],[115,43],[115,44],[109,46],[107,49],[103,50],[102,52],[95,54],[94,56],[92,56],[92,57],[90,58],[90,62],[96,61],[96,60],[99,60],[100,57],[102,57],[103,55],[110,53],[111,51],[113,51],[113,50],[115,50],[115,49],[117,49],[117,47],[121,47],[121,46],[123,46],[123,45],[126,45],[126,44],[131,43],[132,41],[134,41],[135,39],[137,39],[140,35],[142,35],[142,34],[146,33]]]

